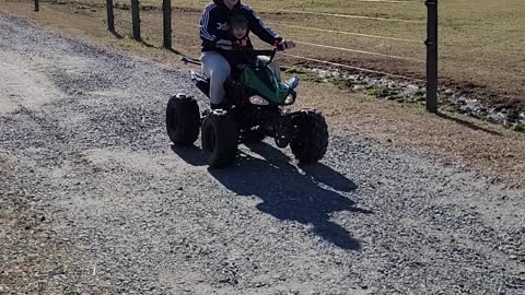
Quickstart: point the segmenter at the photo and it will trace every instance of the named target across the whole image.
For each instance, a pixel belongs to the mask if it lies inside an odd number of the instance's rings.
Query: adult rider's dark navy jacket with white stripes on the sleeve
[[[231,39],[229,32],[230,16],[242,14],[248,21],[248,28],[261,40],[277,45],[282,38],[266,27],[260,17],[248,5],[238,1],[235,7],[230,10],[223,0],[213,0],[202,11],[200,19],[200,38],[202,39],[202,51],[220,51],[217,49],[217,42],[220,39]]]

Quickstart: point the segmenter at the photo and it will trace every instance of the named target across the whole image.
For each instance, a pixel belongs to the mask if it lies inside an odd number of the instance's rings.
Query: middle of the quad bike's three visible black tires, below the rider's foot
[[[202,121],[202,150],[208,152],[208,164],[212,168],[224,168],[237,156],[238,132],[234,120],[229,116],[210,114]]]

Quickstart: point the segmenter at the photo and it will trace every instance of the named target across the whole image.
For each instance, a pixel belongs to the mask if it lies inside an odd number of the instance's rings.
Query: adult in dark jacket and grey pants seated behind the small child
[[[229,31],[230,17],[241,14],[248,21],[248,28],[261,40],[284,49],[295,47],[293,42],[283,39],[262,24],[260,17],[241,0],[213,0],[209,3],[200,20],[200,38],[202,39],[202,71],[210,79],[210,105],[212,109],[224,108],[224,81],[231,74],[231,67],[222,51],[232,50]]]

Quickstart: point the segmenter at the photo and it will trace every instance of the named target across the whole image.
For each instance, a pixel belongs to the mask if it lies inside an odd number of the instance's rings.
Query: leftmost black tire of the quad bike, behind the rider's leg
[[[199,137],[200,114],[197,102],[184,95],[170,98],[166,107],[166,131],[175,145],[191,145]]]

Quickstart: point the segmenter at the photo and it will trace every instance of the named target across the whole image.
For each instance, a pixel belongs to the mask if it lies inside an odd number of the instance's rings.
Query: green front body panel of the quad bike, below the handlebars
[[[277,79],[277,74],[268,66],[244,69],[241,82],[249,96],[259,95],[270,105],[283,105],[290,94],[290,87]]]

